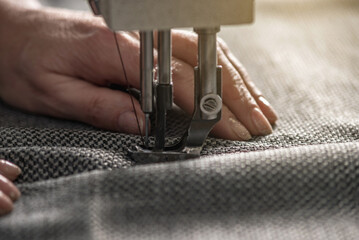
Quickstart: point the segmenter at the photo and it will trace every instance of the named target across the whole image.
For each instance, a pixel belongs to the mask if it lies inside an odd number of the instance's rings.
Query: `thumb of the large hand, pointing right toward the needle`
[[[41,106],[37,109],[41,109],[40,113],[113,131],[130,134],[144,132],[144,114],[134,98],[132,105],[127,93],[57,74],[49,74],[46,78],[52,78],[50,82],[57,84],[47,86],[43,91],[45,94],[40,96]]]

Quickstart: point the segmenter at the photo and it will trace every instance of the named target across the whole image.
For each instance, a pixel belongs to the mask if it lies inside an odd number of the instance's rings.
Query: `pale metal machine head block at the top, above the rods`
[[[213,27],[251,23],[254,0],[97,0],[107,25],[119,30]]]

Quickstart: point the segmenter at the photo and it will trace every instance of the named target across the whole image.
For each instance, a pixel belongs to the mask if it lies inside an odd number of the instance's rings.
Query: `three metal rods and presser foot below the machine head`
[[[158,81],[155,85],[152,84],[153,75],[151,75],[153,73],[152,51],[146,50],[151,49],[152,43],[149,39],[152,39],[152,33],[141,32],[140,34],[141,104],[146,116],[154,112],[156,132],[155,145],[148,146],[147,129],[149,127],[146,125],[145,146],[137,146],[137,149],[130,151],[130,156],[136,162],[164,162],[199,157],[209,132],[221,118],[221,67],[217,66],[216,39],[219,27],[195,29],[195,31],[198,34],[198,66],[194,69],[194,113],[186,133],[177,144],[172,146],[165,145],[166,115],[173,103],[170,64],[171,33],[170,30],[158,32]],[[149,89],[151,87],[155,88],[154,91]],[[150,109],[148,106],[155,107]]]

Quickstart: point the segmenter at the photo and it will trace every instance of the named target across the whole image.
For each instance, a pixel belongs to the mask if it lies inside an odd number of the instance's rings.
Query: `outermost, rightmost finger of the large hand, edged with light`
[[[253,81],[250,79],[247,70],[244,66],[239,62],[239,60],[233,55],[233,53],[229,50],[226,43],[222,39],[218,39],[219,45],[231,62],[231,64],[236,68],[236,70],[241,75],[244,83],[247,86],[247,89],[252,94],[254,99],[256,100],[257,104],[259,105],[260,109],[262,110],[263,114],[267,117],[271,124],[274,124],[277,120],[277,113],[275,112],[274,108],[270,105],[270,103],[264,98],[262,92],[254,85]]]

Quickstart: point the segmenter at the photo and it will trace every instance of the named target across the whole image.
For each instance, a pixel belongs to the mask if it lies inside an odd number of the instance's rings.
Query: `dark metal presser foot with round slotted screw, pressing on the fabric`
[[[201,96],[200,81],[195,81],[195,103],[192,120],[186,133],[181,140],[172,145],[164,146],[155,144],[155,147],[136,146],[134,151],[129,150],[129,156],[137,163],[158,163],[177,160],[198,158],[202,151],[203,144],[213,128],[219,122],[222,115],[222,68],[217,67],[216,92]],[[195,68],[195,79],[199,79],[198,68]]]

